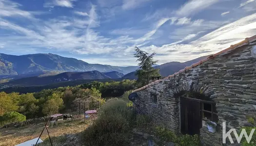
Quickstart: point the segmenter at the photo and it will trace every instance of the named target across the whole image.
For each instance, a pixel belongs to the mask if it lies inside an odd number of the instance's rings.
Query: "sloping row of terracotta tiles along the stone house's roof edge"
[[[206,61],[208,61],[208,60],[210,60],[210,59],[212,59],[212,58],[214,58],[214,57],[216,57],[216,56],[218,56],[218,55],[221,55],[221,54],[226,53],[226,52],[228,52],[228,51],[232,51],[232,50],[234,50],[234,49],[236,49],[236,48],[238,48],[238,47],[241,47],[241,46],[244,46],[244,45],[248,45],[249,43],[254,42],[254,41],[256,41],[256,35],[253,36],[253,37],[246,37],[246,38],[245,38],[244,40],[242,40],[241,42],[236,43],[236,44],[234,44],[234,45],[231,45],[229,48],[224,49],[224,50],[222,50],[222,51],[220,51],[220,52],[218,52],[218,53],[216,53],[216,54],[214,54],[214,55],[210,55],[209,57],[207,57],[207,58],[205,58],[205,59],[203,59],[203,60],[200,60],[200,61],[198,61],[197,63],[192,64],[191,66],[185,67],[184,69],[179,70],[177,73],[168,75],[168,76],[165,77],[163,80],[168,79],[168,78],[171,78],[171,77],[174,77],[175,75],[177,75],[177,74],[179,74],[179,73],[183,73],[183,72],[185,72],[185,71],[187,71],[187,70],[190,70],[190,69],[192,69],[192,68],[194,68],[194,67],[196,67],[196,66],[202,64],[203,62],[206,62]],[[133,92],[146,89],[147,87],[152,86],[152,85],[154,85],[154,84],[157,84],[157,83],[159,83],[159,82],[161,82],[161,81],[162,81],[162,80],[156,80],[155,82],[152,82],[152,83],[150,83],[150,84],[148,84],[148,85],[146,85],[146,86],[143,86],[143,87],[141,87],[141,88],[139,88],[139,89],[136,89],[136,90],[134,90]]]

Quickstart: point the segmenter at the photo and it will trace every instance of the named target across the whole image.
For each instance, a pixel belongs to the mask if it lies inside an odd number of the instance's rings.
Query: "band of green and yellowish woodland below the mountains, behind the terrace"
[[[135,88],[135,80],[98,82],[93,81],[75,87],[59,87],[42,90],[34,93],[20,94],[19,92],[0,92],[0,118],[9,112],[18,112],[26,119],[42,117],[56,112],[70,109],[75,100],[94,98],[100,104],[105,102],[105,97],[119,97],[125,91]],[[0,120],[0,125],[7,121]]]

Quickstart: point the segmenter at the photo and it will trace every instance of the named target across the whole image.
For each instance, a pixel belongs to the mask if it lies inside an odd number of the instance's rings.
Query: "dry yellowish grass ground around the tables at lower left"
[[[54,125],[53,128],[49,127],[49,133],[51,137],[60,136],[64,134],[75,134],[84,131],[89,124],[92,123],[91,120],[84,122],[83,120],[76,121],[66,121],[58,123],[58,126]],[[15,146],[17,144],[23,143],[25,141],[39,137],[44,123],[37,125],[28,125],[21,128],[3,128],[0,129],[0,146]],[[41,136],[42,140],[48,138],[47,131],[44,129]]]

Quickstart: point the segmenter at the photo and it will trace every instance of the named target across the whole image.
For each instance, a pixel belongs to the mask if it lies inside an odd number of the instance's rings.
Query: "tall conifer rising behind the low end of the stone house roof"
[[[147,85],[149,83],[150,76],[160,76],[159,69],[155,69],[152,66],[155,65],[158,61],[154,61],[153,57],[156,54],[155,52],[151,55],[148,55],[145,51],[141,51],[137,46],[135,46],[136,53],[134,56],[139,61],[139,69],[135,72],[135,75],[138,76],[137,85],[138,87]]]

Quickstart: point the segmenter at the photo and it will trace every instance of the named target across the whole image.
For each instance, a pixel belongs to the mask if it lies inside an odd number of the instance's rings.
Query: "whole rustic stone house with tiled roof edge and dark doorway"
[[[256,36],[133,92],[136,110],[157,124],[199,134],[203,146],[222,146],[222,122],[238,130],[256,113]],[[215,133],[206,121],[217,123]]]

